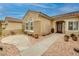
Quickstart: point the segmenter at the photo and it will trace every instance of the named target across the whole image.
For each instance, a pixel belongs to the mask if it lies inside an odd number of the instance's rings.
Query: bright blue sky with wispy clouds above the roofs
[[[49,16],[79,10],[77,3],[0,3],[0,20],[6,16],[22,19],[28,10],[40,11]]]

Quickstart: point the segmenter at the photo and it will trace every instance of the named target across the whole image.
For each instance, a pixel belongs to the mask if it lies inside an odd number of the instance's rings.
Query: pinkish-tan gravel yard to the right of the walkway
[[[79,50],[75,51],[75,49],[79,49],[79,38],[77,41],[69,38],[68,42],[63,39],[53,43],[43,56],[79,56]]]

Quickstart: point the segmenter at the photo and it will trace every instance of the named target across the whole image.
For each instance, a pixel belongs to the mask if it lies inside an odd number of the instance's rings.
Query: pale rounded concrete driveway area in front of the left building
[[[27,49],[31,46],[31,43],[27,35],[8,36],[8,37],[3,38],[1,42],[16,45],[16,47],[20,51]]]

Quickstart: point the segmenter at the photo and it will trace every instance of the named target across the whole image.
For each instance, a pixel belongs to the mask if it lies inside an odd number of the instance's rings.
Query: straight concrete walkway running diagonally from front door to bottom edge
[[[50,37],[45,38],[39,43],[33,45],[28,49],[21,51],[23,56],[40,56],[42,55],[56,40],[61,39],[63,34],[52,34]]]

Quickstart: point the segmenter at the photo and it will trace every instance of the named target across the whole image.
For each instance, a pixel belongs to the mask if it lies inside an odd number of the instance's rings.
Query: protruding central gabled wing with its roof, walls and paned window
[[[51,18],[37,11],[28,11],[23,18],[24,32],[33,35],[46,35],[51,32]]]

